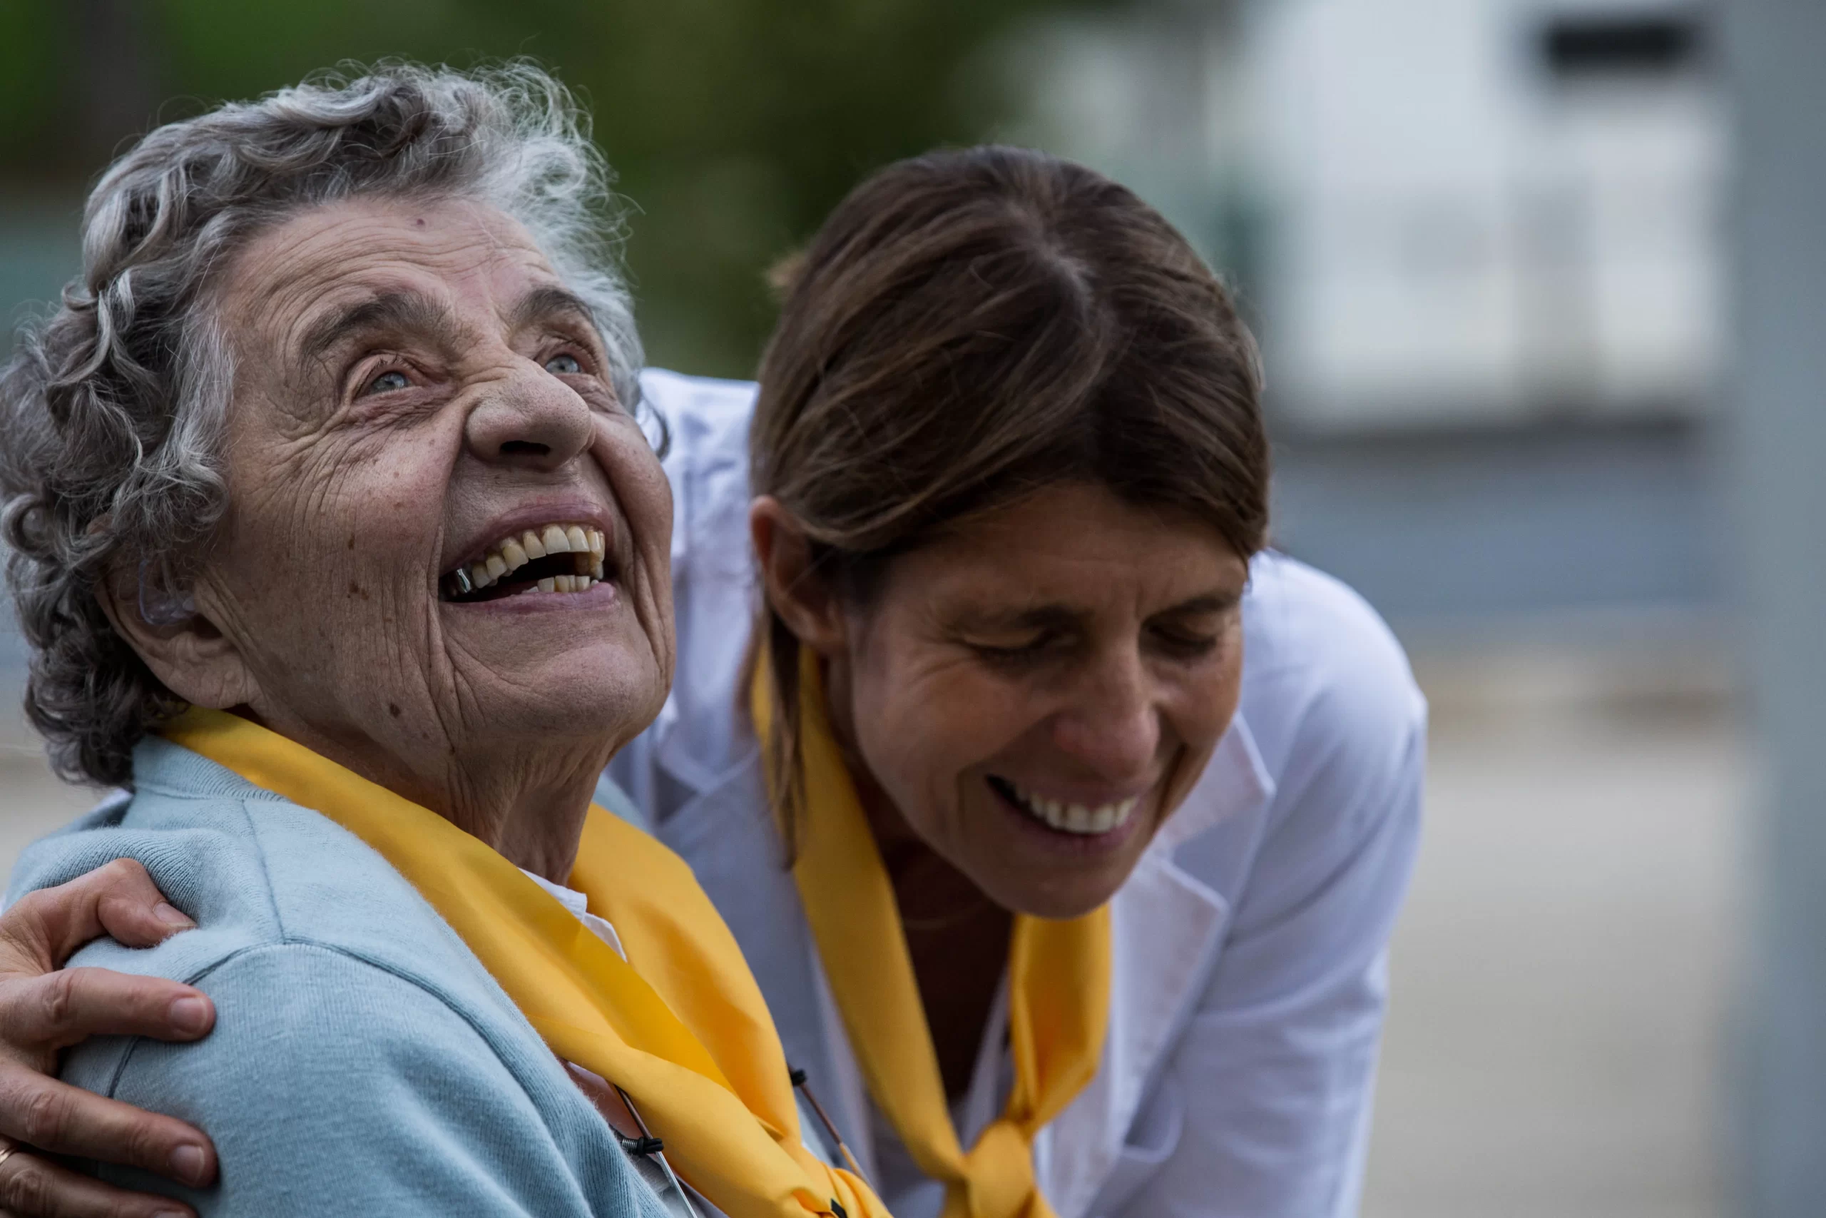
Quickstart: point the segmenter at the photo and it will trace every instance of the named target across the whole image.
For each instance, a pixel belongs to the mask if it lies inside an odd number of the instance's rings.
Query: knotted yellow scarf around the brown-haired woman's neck
[[[772,679],[750,688],[761,740]],[[933,1180],[944,1218],[1054,1218],[1034,1183],[1034,1134],[1096,1076],[1110,1010],[1110,909],[1052,922],[1015,915],[1008,948],[1008,1107],[966,1154],[951,1125],[893,884],[825,716],[816,656],[800,659],[805,825],[792,867],[844,1028],[876,1107]]]

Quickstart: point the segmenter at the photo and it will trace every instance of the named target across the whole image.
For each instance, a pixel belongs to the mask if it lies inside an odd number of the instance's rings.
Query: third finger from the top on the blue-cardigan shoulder
[[[0,1066],[0,1134],[51,1154],[126,1163],[194,1187],[215,1180],[215,1147],[190,1125],[20,1066]],[[0,1189],[0,1203],[13,1205],[5,1198]]]

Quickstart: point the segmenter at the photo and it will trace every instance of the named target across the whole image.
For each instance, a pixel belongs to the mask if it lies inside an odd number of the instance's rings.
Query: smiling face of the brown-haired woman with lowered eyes
[[[908,827],[1001,906],[1121,886],[1236,712],[1249,568],[1211,528],[1050,488],[895,559],[833,701]]]

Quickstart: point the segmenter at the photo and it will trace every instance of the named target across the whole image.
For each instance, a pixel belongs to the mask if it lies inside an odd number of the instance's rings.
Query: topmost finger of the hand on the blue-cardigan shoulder
[[[130,948],[150,948],[194,926],[164,900],[146,867],[115,858],[68,884],[20,897],[0,915],[0,942],[18,964],[37,962],[47,971],[104,933]]]

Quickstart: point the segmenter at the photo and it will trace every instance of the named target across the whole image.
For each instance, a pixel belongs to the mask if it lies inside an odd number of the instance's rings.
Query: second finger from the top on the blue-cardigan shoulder
[[[16,977],[0,993],[0,1041],[68,1048],[91,1035],[195,1041],[215,1026],[206,993],[164,977],[66,968]]]

